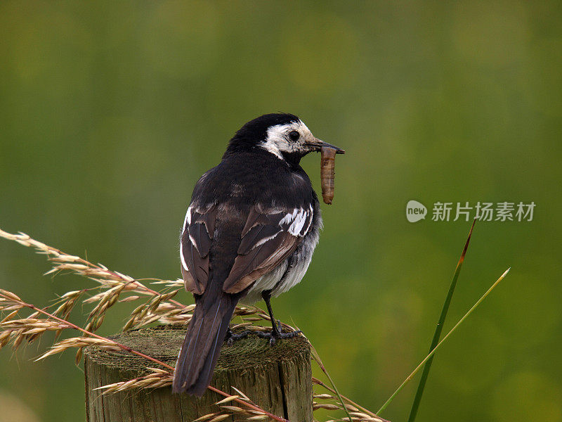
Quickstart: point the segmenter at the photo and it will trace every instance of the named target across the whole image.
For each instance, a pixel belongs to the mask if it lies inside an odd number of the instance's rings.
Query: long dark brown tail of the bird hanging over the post
[[[209,286],[212,284],[208,283],[207,290],[195,301],[174,372],[173,392],[202,396],[213,377],[238,298],[224,293],[222,286]]]

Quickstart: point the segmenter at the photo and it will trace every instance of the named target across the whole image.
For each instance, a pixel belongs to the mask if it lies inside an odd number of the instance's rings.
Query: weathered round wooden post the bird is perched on
[[[184,335],[185,326],[158,326],[127,331],[113,338],[175,366]],[[224,397],[209,390],[201,398],[173,395],[171,387],[108,395],[94,390],[145,375],[146,366],[156,365],[127,352],[87,347],[84,351],[86,421],[191,422],[221,410],[214,403]],[[291,422],[312,422],[311,377],[310,348],[302,337],[283,339],[270,347],[267,339],[250,334],[233,345],[223,345],[211,385],[235,394],[230,388],[233,385],[266,411]],[[234,415],[227,421],[242,418],[247,415]]]

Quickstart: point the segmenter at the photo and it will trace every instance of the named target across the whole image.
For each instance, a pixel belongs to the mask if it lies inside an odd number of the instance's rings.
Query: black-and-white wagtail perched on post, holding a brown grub
[[[244,124],[221,162],[193,189],[180,238],[185,289],[195,310],[178,354],[172,391],[202,396],[227,335],[237,303],[266,302],[303,279],[322,229],[320,203],[300,160],[323,146],[289,113],[270,113]]]

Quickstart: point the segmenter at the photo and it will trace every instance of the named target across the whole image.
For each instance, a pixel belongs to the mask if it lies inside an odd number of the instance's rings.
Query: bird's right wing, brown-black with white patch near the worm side
[[[283,262],[311,229],[313,207],[263,209],[251,207],[240,247],[223,284],[226,293],[240,293]]]

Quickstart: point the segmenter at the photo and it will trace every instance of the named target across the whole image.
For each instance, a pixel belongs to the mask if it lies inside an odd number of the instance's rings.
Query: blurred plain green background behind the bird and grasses
[[[375,411],[427,352],[469,230],[433,203],[534,201],[476,225],[445,331],[511,273],[437,354],[417,420],[562,421],[558,2],[2,1],[0,227],[174,279],[195,181],[277,110],[347,151],[308,274],[273,302],[341,392]],[[410,199],[430,216],[407,222]],[[0,241],[0,287],[28,302],[89,286],[48,269]],[[39,350],[1,351],[0,421],[82,420],[74,354]],[[383,416],[405,420],[416,381]]]

